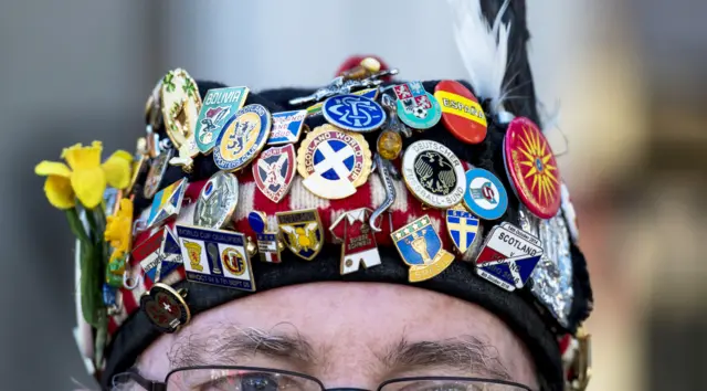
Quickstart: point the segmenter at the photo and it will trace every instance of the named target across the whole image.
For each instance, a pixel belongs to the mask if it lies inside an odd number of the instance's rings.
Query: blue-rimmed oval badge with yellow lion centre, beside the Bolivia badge
[[[224,171],[238,171],[253,160],[270,137],[272,119],[262,105],[241,108],[223,126],[213,148],[213,161]]]

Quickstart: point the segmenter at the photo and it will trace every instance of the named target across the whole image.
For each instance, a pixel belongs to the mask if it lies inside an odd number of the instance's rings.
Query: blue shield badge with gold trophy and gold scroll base
[[[410,266],[411,283],[436,276],[454,261],[454,255],[442,247],[442,240],[428,215],[391,233],[390,237],[402,261]]]

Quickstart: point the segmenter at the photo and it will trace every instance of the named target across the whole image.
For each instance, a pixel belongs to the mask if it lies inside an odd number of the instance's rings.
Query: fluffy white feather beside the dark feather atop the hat
[[[503,83],[508,59],[510,23],[502,18],[510,0],[504,1],[494,24],[482,13],[481,0],[447,0],[454,13],[454,38],[474,92],[492,101],[494,112],[503,109]]]

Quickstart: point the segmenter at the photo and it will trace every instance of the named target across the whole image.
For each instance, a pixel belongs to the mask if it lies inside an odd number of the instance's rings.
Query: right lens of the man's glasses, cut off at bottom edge
[[[383,385],[380,391],[528,391],[523,385],[495,380],[401,380]]]

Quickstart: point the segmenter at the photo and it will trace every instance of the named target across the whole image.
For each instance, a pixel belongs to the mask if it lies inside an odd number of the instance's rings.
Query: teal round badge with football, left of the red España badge
[[[393,92],[398,98],[398,116],[411,128],[429,129],[442,118],[440,103],[421,82],[399,84]]]

